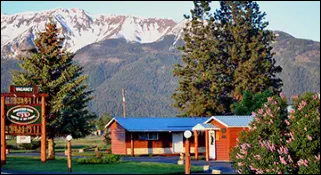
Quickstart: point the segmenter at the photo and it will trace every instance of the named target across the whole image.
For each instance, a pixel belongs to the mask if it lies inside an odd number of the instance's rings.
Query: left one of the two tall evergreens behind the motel
[[[209,2],[194,1],[191,20],[184,28],[184,65],[176,64],[174,76],[179,77],[179,87],[173,93],[174,107],[182,116],[211,116],[228,112],[228,82],[225,56],[220,33],[213,26]],[[190,16],[186,16],[190,19]],[[215,31],[216,30],[216,31]],[[218,38],[214,40],[213,38]]]

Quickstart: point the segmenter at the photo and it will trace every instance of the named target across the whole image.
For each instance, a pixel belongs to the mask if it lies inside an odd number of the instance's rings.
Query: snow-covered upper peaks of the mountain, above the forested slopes
[[[90,15],[78,8],[58,8],[12,15],[1,13],[2,58],[13,58],[21,54],[21,50],[33,48],[36,33],[44,31],[50,18],[62,28],[64,46],[73,52],[88,44],[111,38],[151,43],[167,34],[179,36],[183,27],[182,22],[177,24],[171,19]]]

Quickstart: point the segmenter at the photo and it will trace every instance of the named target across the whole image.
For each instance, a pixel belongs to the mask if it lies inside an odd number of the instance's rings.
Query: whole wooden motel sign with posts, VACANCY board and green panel
[[[6,163],[6,134],[41,136],[41,162],[46,162],[45,97],[37,86],[10,86],[9,93],[1,93],[1,164]]]

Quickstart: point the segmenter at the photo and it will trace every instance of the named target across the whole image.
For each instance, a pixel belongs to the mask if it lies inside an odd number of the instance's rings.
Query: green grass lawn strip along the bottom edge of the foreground
[[[7,157],[5,170],[26,172],[67,172],[66,158],[56,158],[41,163],[39,157]],[[192,166],[191,172],[201,172],[201,166]],[[184,174],[184,165],[151,163],[151,162],[121,162],[118,164],[87,164],[80,165],[73,159],[72,172],[75,173],[121,173],[121,174]]]

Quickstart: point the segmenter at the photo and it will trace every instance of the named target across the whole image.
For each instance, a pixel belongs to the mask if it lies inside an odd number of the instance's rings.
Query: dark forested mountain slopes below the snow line
[[[297,39],[275,31],[273,51],[283,67],[281,77],[287,96],[305,91],[320,92],[320,42]],[[75,61],[84,66],[89,85],[95,90],[90,108],[102,114],[122,116],[121,89],[126,90],[128,116],[174,116],[177,114],[171,94],[177,87],[172,66],[180,61],[182,45],[176,36],[167,35],[152,43],[107,39],[78,50]],[[1,92],[10,84],[10,69],[18,69],[17,60],[1,60]]]

